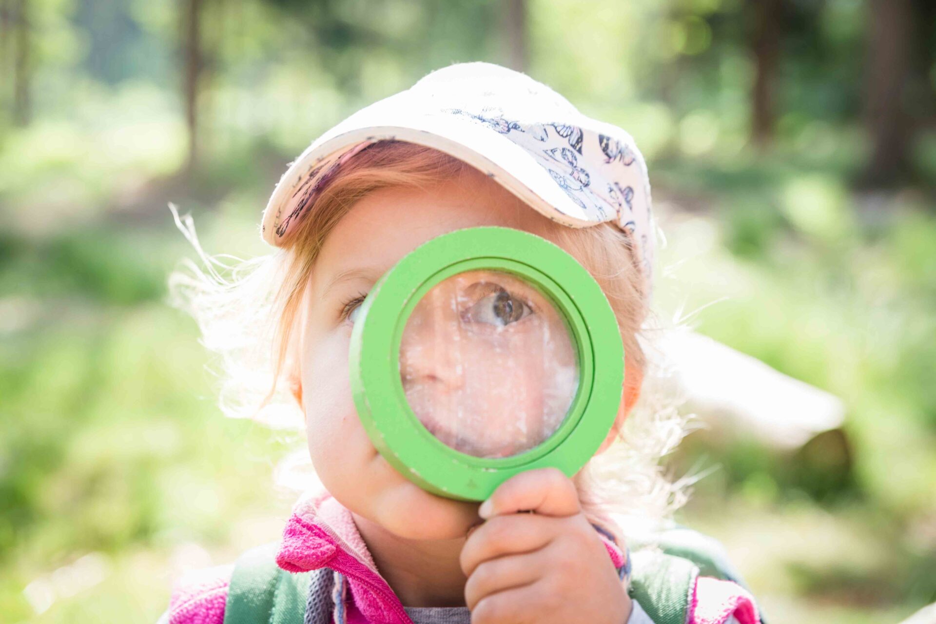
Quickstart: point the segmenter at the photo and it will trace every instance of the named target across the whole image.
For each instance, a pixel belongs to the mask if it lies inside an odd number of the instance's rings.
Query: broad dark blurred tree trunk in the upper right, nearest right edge
[[[870,0],[865,123],[871,143],[862,185],[890,186],[909,166],[909,124],[903,97],[910,78],[912,0]]]

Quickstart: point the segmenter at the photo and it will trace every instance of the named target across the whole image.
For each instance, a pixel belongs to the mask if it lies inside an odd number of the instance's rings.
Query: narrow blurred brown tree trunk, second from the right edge
[[[751,99],[751,134],[754,142],[766,146],[773,138],[776,116],[777,63],[782,35],[782,0],[750,0],[753,9],[751,51],[754,57],[754,84]]]

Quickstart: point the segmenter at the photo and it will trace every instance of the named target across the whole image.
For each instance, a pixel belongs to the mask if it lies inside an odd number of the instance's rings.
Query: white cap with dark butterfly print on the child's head
[[[355,153],[388,139],[455,156],[563,225],[613,222],[631,235],[651,285],[650,181],[634,139],[581,114],[545,84],[490,63],[437,69],[316,138],[273,190],[262,238],[282,246],[323,182]]]

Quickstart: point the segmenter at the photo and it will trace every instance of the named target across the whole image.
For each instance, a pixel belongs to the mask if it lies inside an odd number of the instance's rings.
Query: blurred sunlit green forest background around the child
[[[154,621],[278,538],[294,439],[215,406],[167,203],[267,253],[288,162],[470,60],[635,136],[664,314],[844,402],[847,443],[690,436],[680,520],[774,623],[936,601],[936,3],[0,0],[0,621]]]

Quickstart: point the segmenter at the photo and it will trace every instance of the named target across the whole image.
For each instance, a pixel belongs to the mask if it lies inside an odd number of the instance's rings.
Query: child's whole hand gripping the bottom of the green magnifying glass
[[[519,514],[532,510],[533,514]],[[461,550],[472,624],[624,624],[627,595],[607,548],[555,468],[521,472],[481,505]]]

